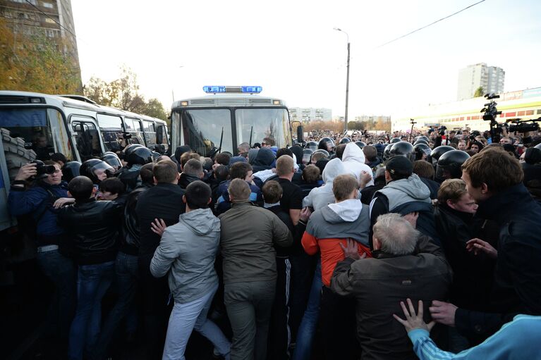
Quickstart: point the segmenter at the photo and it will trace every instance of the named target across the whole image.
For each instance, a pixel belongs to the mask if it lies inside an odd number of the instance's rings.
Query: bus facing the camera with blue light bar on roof
[[[289,112],[284,101],[261,97],[260,86],[205,86],[203,97],[175,101],[171,107],[171,147],[189,145],[201,156],[237,154],[271,137],[278,148],[292,144]]]

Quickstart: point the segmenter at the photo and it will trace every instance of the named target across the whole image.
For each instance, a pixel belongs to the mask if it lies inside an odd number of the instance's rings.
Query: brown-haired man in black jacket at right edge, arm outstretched
[[[462,170],[466,190],[479,204],[475,216],[499,224],[494,287],[483,312],[432,302],[430,313],[463,336],[488,337],[516,314],[541,314],[541,207],[523,185],[518,160],[499,147],[468,159]],[[468,249],[492,252],[478,240]]]

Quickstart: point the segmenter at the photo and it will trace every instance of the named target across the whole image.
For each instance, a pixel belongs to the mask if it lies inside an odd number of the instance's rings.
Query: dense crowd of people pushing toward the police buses
[[[130,144],[22,166],[8,209],[55,289],[57,359],[107,359],[119,333],[185,359],[193,330],[222,359],[541,359],[537,142]]]

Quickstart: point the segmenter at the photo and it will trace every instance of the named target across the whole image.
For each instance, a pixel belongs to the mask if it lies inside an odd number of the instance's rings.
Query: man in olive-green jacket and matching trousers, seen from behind
[[[276,291],[273,243],[287,247],[291,232],[274,213],[250,204],[250,187],[229,185],[232,207],[219,216],[224,257],[224,300],[233,329],[231,359],[265,359]]]

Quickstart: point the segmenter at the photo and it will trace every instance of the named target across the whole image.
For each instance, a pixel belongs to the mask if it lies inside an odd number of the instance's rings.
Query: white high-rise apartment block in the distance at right
[[[475,90],[482,87],[484,94],[504,92],[505,71],[497,66],[476,63],[458,71],[458,101],[471,99]]]

